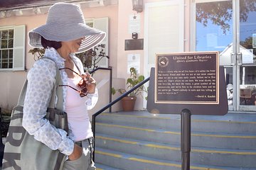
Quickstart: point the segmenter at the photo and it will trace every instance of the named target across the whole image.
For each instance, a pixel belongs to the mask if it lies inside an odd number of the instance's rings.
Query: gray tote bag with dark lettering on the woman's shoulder
[[[60,71],[56,65],[55,86],[46,118],[56,128],[61,128],[68,132],[67,113],[62,111],[63,89],[57,88],[59,83],[61,83]],[[16,106],[11,113],[11,123],[4,147],[2,170],[60,170],[63,167],[65,155],[60,153],[58,149],[52,150],[42,142],[35,140],[22,126],[23,102],[26,95],[26,86],[27,80],[18,98],[18,106]],[[56,108],[54,107],[55,94],[58,96]]]

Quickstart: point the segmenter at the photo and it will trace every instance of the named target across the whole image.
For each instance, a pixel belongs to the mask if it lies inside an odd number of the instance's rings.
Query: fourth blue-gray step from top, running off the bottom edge
[[[110,149],[95,148],[95,162],[100,164],[109,164],[117,169],[124,170],[180,170],[181,162],[166,161],[163,159],[152,159],[149,157],[142,157],[135,154],[127,154],[123,152],[114,152]],[[191,164],[190,169],[208,169],[208,170],[238,170],[230,166],[201,166],[198,164]],[[252,170],[252,168],[242,168],[244,170]]]

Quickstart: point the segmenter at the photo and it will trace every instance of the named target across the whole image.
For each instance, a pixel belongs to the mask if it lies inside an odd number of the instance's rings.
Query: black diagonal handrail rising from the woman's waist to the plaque
[[[114,101],[112,101],[111,103],[107,104],[107,106],[105,106],[104,108],[100,109],[100,111],[97,111],[95,114],[92,115],[92,132],[93,132],[93,136],[95,137],[95,120],[96,120],[96,116],[100,115],[100,113],[102,113],[103,111],[105,111],[107,108],[110,108],[112,105],[114,105],[114,103],[117,103],[117,101],[120,101],[122,98],[124,98],[125,96],[127,96],[128,94],[132,93],[132,91],[138,89],[140,86],[142,86],[143,84],[145,84],[147,81],[149,81],[149,78],[144,79],[144,81],[140,82],[139,84],[137,84],[136,86],[134,86],[134,88],[130,89],[129,91],[127,91],[126,93],[122,94],[121,96],[119,96],[117,99],[115,99]],[[93,150],[95,151],[95,140],[93,141]],[[95,161],[95,152],[93,152],[92,154],[92,160]]]

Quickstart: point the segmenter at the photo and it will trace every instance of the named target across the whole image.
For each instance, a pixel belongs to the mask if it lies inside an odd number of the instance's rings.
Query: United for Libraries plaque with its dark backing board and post
[[[147,111],[181,115],[181,169],[190,170],[191,115],[225,115],[228,98],[219,52],[156,55]]]

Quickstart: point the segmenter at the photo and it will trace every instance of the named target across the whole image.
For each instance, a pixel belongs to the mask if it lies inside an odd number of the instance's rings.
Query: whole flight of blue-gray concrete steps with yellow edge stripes
[[[102,113],[95,159],[117,169],[181,169],[181,116]],[[191,169],[256,169],[256,114],[191,116]]]

